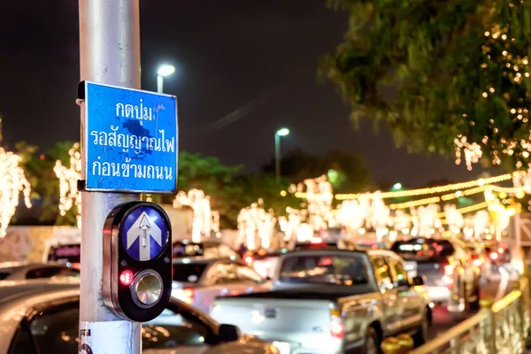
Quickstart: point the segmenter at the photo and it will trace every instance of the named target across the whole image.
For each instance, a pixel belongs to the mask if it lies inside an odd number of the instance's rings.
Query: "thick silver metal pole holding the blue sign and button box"
[[[139,0],[80,0],[79,8],[81,81],[140,89]],[[84,155],[81,161],[84,168]],[[80,352],[141,352],[141,323],[113,315],[102,298],[104,220],[114,206],[133,200],[138,196],[82,193]]]

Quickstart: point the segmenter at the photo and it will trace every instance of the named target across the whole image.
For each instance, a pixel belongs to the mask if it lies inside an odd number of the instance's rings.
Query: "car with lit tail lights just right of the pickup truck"
[[[391,250],[416,263],[432,302],[443,304],[450,312],[479,309],[481,271],[473,264],[466,243],[413,237],[393,243]]]

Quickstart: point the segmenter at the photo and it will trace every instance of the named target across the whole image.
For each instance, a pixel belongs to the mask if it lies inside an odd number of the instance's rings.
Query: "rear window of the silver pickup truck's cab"
[[[280,281],[350,286],[368,283],[368,273],[362,254],[301,255],[284,260]]]

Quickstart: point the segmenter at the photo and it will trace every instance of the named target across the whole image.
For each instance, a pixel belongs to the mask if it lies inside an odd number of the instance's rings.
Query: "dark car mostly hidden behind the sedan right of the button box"
[[[173,242],[173,258],[204,257],[240,259],[240,254],[219,240]]]

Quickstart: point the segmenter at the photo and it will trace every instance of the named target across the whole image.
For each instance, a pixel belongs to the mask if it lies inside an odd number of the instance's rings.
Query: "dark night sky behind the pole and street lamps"
[[[331,83],[317,80],[319,56],[334,50],[347,17],[324,0],[143,0],[142,89],[156,90],[157,66],[180,110],[180,148],[258,171],[273,158],[273,135],[289,127],[283,150],[314,154],[356,150],[375,181],[416,187],[473,173],[453,158],[408,155],[385,127],[355,131],[349,107]],[[77,140],[78,9],[75,0],[0,4],[0,112],[4,140],[49,148]],[[310,176],[309,176],[310,177]]]

